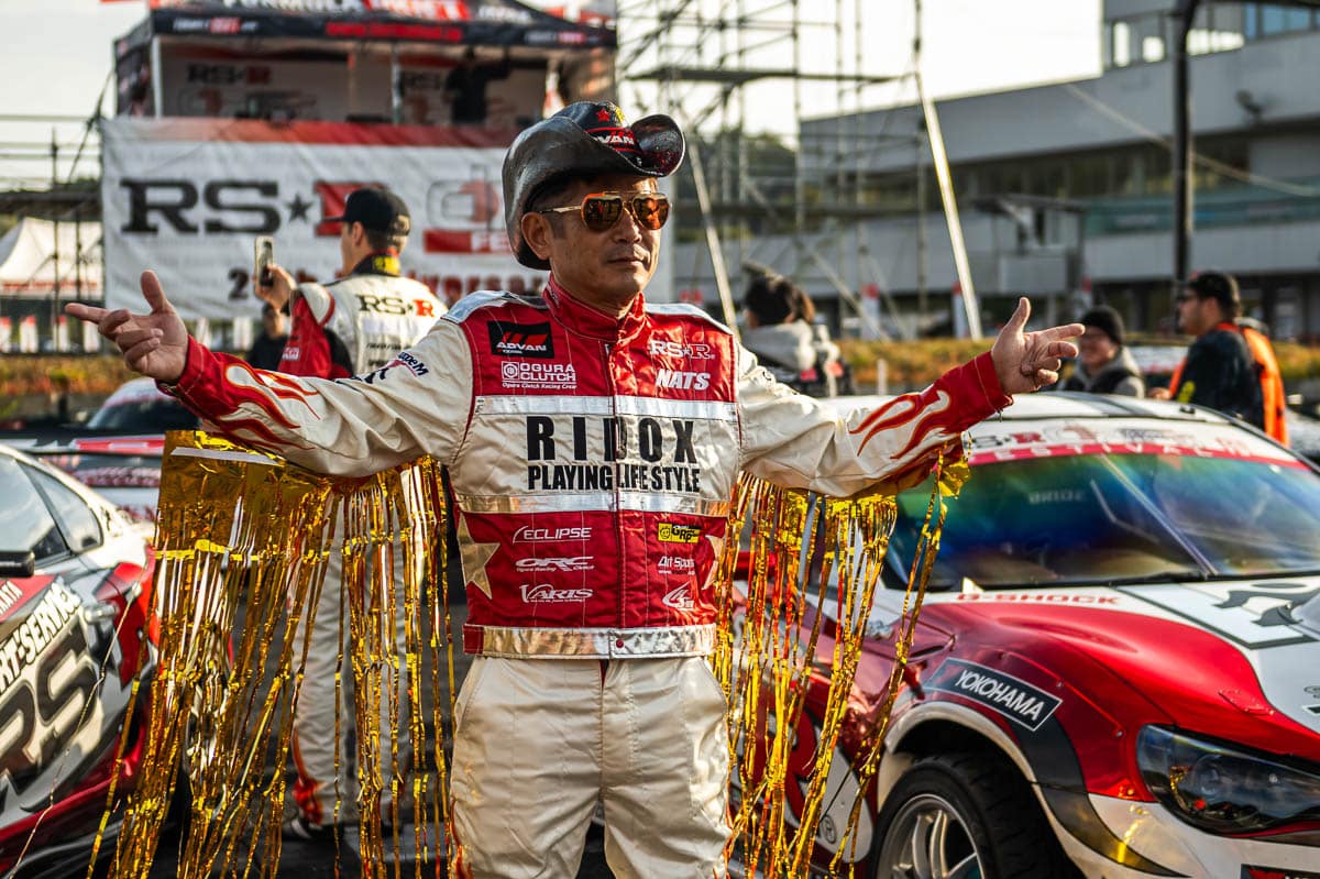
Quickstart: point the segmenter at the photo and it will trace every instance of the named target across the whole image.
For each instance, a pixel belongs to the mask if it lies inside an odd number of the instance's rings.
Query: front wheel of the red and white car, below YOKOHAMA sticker
[[[917,760],[884,801],[875,879],[1076,875],[1022,775],[997,754]]]

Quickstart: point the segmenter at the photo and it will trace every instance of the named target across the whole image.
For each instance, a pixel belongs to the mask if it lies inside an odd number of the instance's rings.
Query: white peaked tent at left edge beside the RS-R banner
[[[0,238],[0,297],[49,300],[58,281],[59,297],[75,298],[81,280],[84,298],[100,298],[102,275],[100,223],[25,216]]]

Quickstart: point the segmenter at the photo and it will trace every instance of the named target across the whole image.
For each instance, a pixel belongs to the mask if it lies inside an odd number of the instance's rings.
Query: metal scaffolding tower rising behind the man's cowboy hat
[[[706,247],[686,251],[693,256],[675,267],[675,284],[697,286],[713,273],[726,321],[734,319],[730,286],[739,269],[760,267],[804,285],[824,280],[846,317],[883,334],[857,278],[837,268],[841,249],[865,253],[859,220],[879,215],[855,185],[861,153],[878,145],[845,125],[829,143],[803,143],[800,124],[812,112],[855,115],[869,87],[906,75],[866,71],[863,3],[620,3],[624,102],[675,115],[689,132],[692,179],[680,186],[693,190],[700,230],[689,223],[685,238],[697,234]],[[766,253],[756,247],[764,235],[787,235],[792,247]],[[710,273],[694,264],[700,259],[709,259]],[[876,281],[871,289],[884,290],[883,273]]]

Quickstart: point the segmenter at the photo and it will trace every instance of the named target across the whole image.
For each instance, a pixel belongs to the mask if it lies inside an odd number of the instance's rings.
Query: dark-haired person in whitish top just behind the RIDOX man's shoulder
[[[763,367],[788,387],[813,397],[833,397],[849,388],[838,346],[824,326],[814,326],[816,305],[780,275],[756,273],[743,294],[747,327],[742,343]]]

